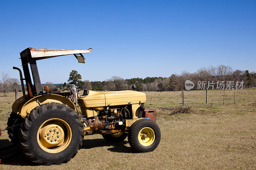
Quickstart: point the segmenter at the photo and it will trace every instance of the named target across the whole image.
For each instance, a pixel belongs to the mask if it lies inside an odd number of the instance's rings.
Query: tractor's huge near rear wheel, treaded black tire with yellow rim
[[[80,117],[65,104],[42,104],[24,119],[20,146],[33,162],[61,164],[68,162],[81,148],[83,129]]]

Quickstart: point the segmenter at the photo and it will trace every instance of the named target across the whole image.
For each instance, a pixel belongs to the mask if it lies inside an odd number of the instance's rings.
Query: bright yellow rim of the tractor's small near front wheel
[[[155,141],[155,132],[149,127],[142,128],[139,132],[138,139],[142,146],[149,146]]]

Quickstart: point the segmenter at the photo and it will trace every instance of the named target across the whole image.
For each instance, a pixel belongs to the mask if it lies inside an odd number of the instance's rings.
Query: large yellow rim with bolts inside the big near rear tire
[[[37,131],[37,142],[46,152],[63,151],[71,141],[71,128],[62,119],[54,118],[45,121]]]

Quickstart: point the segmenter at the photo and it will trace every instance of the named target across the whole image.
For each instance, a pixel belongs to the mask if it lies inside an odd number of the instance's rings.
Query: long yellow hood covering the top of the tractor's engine
[[[78,104],[81,107],[105,107],[146,102],[143,92],[125,90],[114,92],[94,92],[89,90],[88,95],[80,96]]]

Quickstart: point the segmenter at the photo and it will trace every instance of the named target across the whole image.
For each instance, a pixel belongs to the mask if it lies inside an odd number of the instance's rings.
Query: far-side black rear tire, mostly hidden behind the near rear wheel
[[[7,121],[7,128],[21,124],[22,122],[23,122],[23,118],[20,115],[17,115],[16,113],[12,112]],[[9,138],[11,139],[11,142],[13,144],[19,144],[19,131],[20,131],[20,126],[16,126],[12,129],[7,129],[7,134],[9,135]]]

